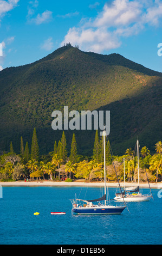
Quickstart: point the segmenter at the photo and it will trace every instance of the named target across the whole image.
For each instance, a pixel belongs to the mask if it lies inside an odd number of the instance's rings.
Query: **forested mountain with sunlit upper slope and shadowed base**
[[[0,72],[0,150],[12,141],[20,153],[20,138],[28,141],[36,127],[42,154],[54,149],[62,131],[51,129],[54,110],[111,111],[111,142],[114,154],[134,147],[151,151],[161,139],[162,73],[145,68],[120,54],[82,52],[61,47],[37,62]],[[74,131],[65,131],[67,142]],[[78,152],[92,155],[95,131],[75,131]],[[69,139],[68,139],[69,138]]]

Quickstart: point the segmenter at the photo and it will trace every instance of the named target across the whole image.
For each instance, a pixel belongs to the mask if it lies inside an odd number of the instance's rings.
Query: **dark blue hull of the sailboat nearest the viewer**
[[[73,208],[73,214],[121,214],[126,206],[108,206],[108,207],[92,207],[92,208]]]

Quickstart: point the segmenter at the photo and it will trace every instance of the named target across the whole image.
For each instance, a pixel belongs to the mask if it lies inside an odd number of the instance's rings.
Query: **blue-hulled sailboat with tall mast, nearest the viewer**
[[[104,153],[104,182],[105,194],[98,199],[83,200],[83,199],[70,199],[73,205],[72,214],[121,214],[126,208],[124,206],[113,206],[108,204],[106,199],[106,157],[105,157],[105,136],[106,132],[103,131],[103,153]],[[103,203],[101,203],[103,202]]]

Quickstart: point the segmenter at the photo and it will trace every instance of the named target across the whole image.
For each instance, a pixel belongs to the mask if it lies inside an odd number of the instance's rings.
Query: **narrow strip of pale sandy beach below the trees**
[[[85,187],[98,187],[104,186],[103,182],[85,182],[76,180],[73,182],[65,182],[65,181],[13,181],[13,182],[0,182],[2,187],[5,186],[85,186]],[[120,182],[121,187],[124,186],[124,182]],[[133,182],[126,182],[126,187],[135,187],[138,184]],[[108,187],[118,187],[118,182],[107,182]],[[140,187],[149,188],[148,183],[140,183]],[[162,188],[162,182],[150,183],[151,188],[160,189]]]

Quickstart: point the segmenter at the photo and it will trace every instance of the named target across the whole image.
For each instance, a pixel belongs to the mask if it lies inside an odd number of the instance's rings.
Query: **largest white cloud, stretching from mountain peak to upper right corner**
[[[162,17],[160,0],[114,0],[106,3],[95,18],[81,20],[70,28],[63,42],[79,45],[82,50],[103,52],[121,45],[125,36],[136,35],[146,25],[158,26]]]

